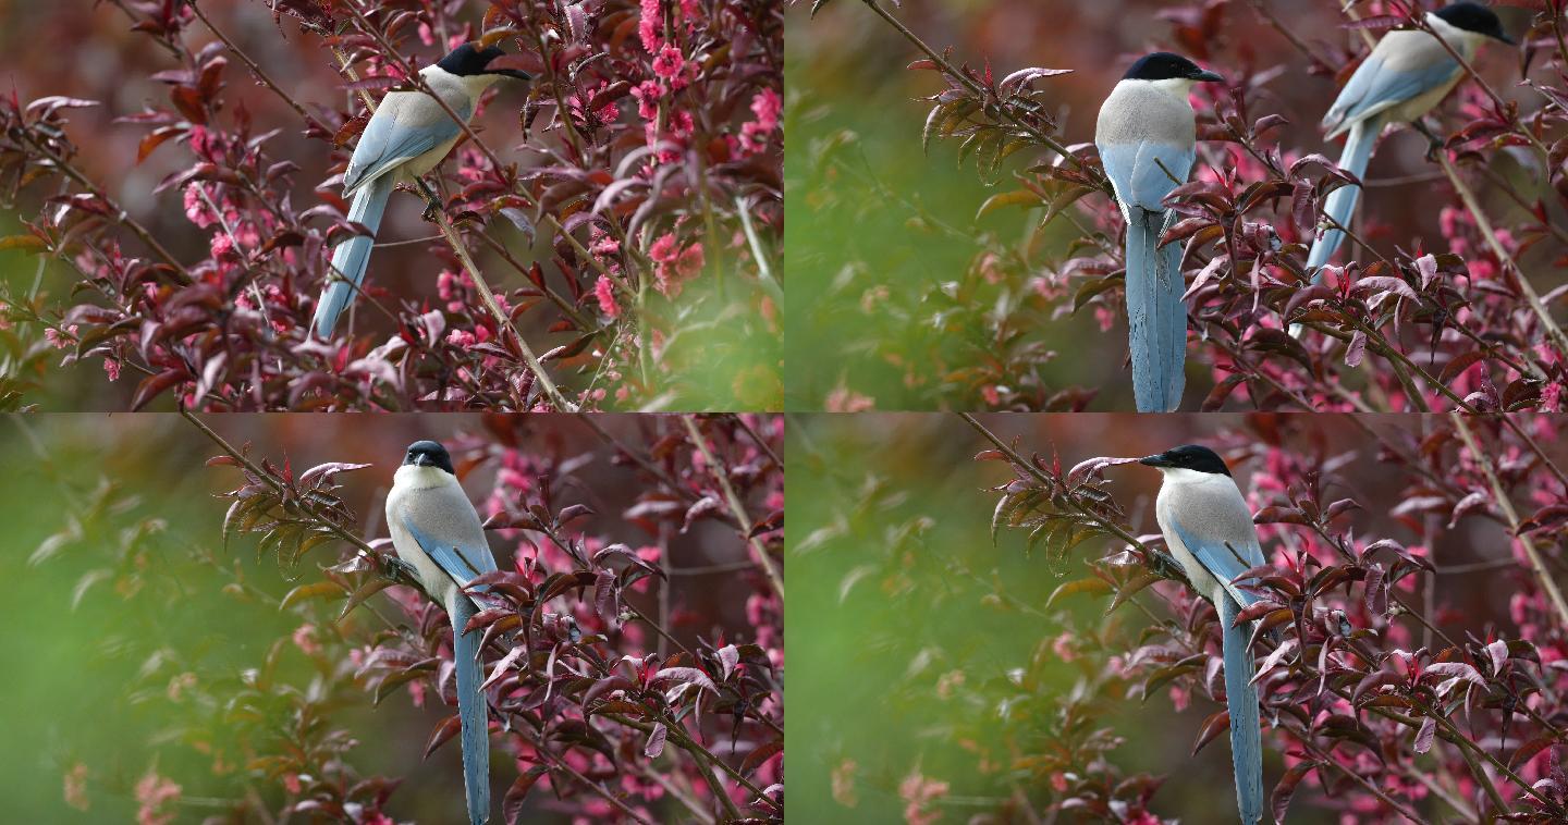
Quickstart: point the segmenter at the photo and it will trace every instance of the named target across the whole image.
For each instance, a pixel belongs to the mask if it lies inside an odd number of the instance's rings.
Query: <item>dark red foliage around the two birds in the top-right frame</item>
[[[1377,36],[1394,25],[1425,25],[1425,8],[1436,5],[1356,3],[1341,19],[1301,11],[1295,28],[1303,30],[1305,19],[1312,27],[1359,19],[1352,28]],[[1159,13],[1173,41],[1159,45],[1190,53],[1229,80],[1193,91],[1198,163],[1192,182],[1168,199],[1182,218],[1170,238],[1184,248],[1189,356],[1209,370],[1207,381],[1195,383],[1207,395],[1187,398],[1184,409],[1563,409],[1568,55],[1560,8],[1529,3],[1534,16],[1508,17],[1515,33],[1518,22],[1529,19],[1529,27],[1507,85],[1471,67],[1460,91],[1428,118],[1444,140],[1430,162],[1432,184],[1416,196],[1424,215],[1438,215],[1441,238],[1391,237],[1380,210],[1403,213],[1408,199],[1370,190],[1353,227],[1358,237],[1345,245],[1353,257],[1309,285],[1303,263],[1325,196],[1350,179],[1331,158],[1300,149],[1316,143],[1314,122],[1331,97],[1309,110],[1289,99],[1323,86],[1311,75],[1342,83],[1366,44],[1323,50],[1325,41],[1345,38],[1301,38],[1275,17],[1286,14],[1275,6],[1162,5]],[[999,11],[1019,13],[1011,5]],[[1146,9],[1127,3],[1121,11]],[[922,19],[917,9],[908,17]],[[1269,28],[1292,49],[1270,52],[1248,38]],[[941,285],[902,293],[894,287],[866,301],[866,340],[850,348],[903,365],[909,387],[930,387],[920,400],[928,408],[1082,409],[1098,389],[1054,386],[1049,362],[1060,353],[1046,351],[1032,334],[1093,314],[1105,340],[1085,345],[1126,351],[1123,221],[1093,144],[1069,143],[1058,130],[1063,100],[1051,91],[1052,78],[1071,67],[993,66],[983,56],[936,52],[919,42],[927,33],[903,33],[908,53],[920,56],[908,69],[939,80],[939,91],[925,97],[920,140],[956,141],[960,163],[972,158],[982,182],[1002,187],[980,215],[1010,207],[1032,215],[1022,240],[938,227],[953,243],[974,245],[971,265]],[[1488,67],[1508,66],[1508,58],[1502,44],[1486,50]],[[1281,114],[1287,102],[1297,107]],[[1093,110],[1074,110],[1074,136],[1087,141]],[[848,152],[839,149],[815,152],[820,168],[812,174],[851,174],[853,163],[840,157]],[[1013,155],[1029,163],[1005,163]],[[889,205],[902,209],[884,201],[877,209]],[[911,223],[930,224],[919,207],[905,205]],[[1300,340],[1286,334],[1292,323],[1306,325]],[[911,326],[928,329],[919,339],[924,348],[898,347],[900,331]],[[826,398],[829,409],[862,395],[848,375],[840,397]],[[1115,373],[1109,378],[1105,384]]]

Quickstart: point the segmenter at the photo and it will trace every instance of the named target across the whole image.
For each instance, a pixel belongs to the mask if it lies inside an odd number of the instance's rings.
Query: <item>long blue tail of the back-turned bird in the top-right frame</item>
[[[1187,306],[1181,296],[1181,245],[1159,248],[1165,215],[1129,207],[1127,329],[1132,350],[1132,394],[1138,412],[1181,406],[1187,383]]]

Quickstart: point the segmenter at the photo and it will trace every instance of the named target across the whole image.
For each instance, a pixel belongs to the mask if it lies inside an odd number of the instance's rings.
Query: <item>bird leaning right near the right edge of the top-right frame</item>
[[[1497,16],[1480,3],[1452,3],[1428,11],[1425,20],[1432,31],[1408,28],[1383,35],[1361,66],[1356,66],[1345,88],[1339,89],[1339,97],[1323,116],[1322,125],[1328,130],[1328,140],[1345,135],[1339,168],[1353,174],[1356,180],[1366,174],[1372,146],[1383,127],[1417,122],[1443,102],[1463,77],[1463,66],[1433,33],[1463,55],[1466,63],[1475,60],[1477,50],[1486,39],[1513,44],[1513,39],[1502,31]],[[1328,193],[1323,212],[1333,223],[1312,242],[1306,254],[1306,271],[1311,273],[1314,284],[1323,276],[1323,263],[1328,263],[1345,240],[1344,231],[1338,226],[1350,226],[1350,215],[1355,213],[1359,196],[1359,185],[1344,185]],[[1292,331],[1300,333],[1300,325]]]

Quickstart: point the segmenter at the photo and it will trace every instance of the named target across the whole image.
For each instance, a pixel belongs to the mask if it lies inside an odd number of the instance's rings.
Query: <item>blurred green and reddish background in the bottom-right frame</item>
[[[1411,541],[1389,516],[1402,503],[1408,474],[1380,461],[1367,431],[1419,433],[1419,416],[1328,414],[985,414],[978,420],[1025,456],[1058,456],[1063,467],[1093,456],[1143,456],[1178,444],[1265,444],[1312,456],[1338,480],[1323,500],[1353,497],[1358,538]],[[1559,464],[1560,439],[1543,442]],[[1131,605],[1104,616],[1109,598],[1068,596],[1046,609],[1063,582],[1083,576],[1083,563],[1116,547],[1087,541],[1054,571],[1044,549],[1025,552],[1025,530],[1002,529],[996,544],[991,518],[997,494],[988,488],[1011,474],[1000,461],[974,461],[991,449],[958,416],[862,414],[795,416],[789,428],[790,529],[787,576],[789,657],[795,668],[787,720],[792,743],[790,816],[803,822],[971,822],[997,814],[1014,794],[1049,798],[1046,780],[1030,776],[1032,754],[1049,753],[1052,718],[1021,693],[1066,696],[1082,690],[1094,665],[1063,660],[1062,618],[1079,627],[1116,623],[1137,635],[1148,620]],[[1258,469],[1231,467],[1239,486]],[[1154,496],[1160,475],[1137,464],[1110,467],[1109,489],[1127,510],[1137,533],[1157,533]],[[1370,541],[1370,538],[1367,538]],[[1265,547],[1265,554],[1269,547]],[[1494,522],[1465,519],[1436,543],[1438,566],[1508,558],[1508,536]],[[1499,569],[1438,576],[1435,604],[1455,638],[1508,623],[1513,579]],[[1167,613],[1160,605],[1157,615]],[[1090,654],[1094,657],[1094,654]],[[1014,673],[1038,684],[1010,687]],[[1011,707],[1008,707],[1011,704]],[[1146,701],[1104,700],[1094,728],[1109,726],[1124,742],[1110,759],[1124,773],[1165,776],[1151,809],[1182,822],[1231,822],[1229,747],[1221,736],[1196,756],[1193,742],[1215,707],[1193,695],[1176,711],[1165,690]],[[1013,718],[1002,720],[1004,714]],[[1265,739],[1264,790],[1279,780],[1281,754]],[[1018,750],[999,756],[999,750]],[[911,808],[916,776],[947,783],[925,808]],[[1301,786],[1290,822],[1334,822],[1308,803],[1317,787]],[[1320,797],[1319,797],[1320,801]],[[1029,822],[1013,819],[978,822]]]

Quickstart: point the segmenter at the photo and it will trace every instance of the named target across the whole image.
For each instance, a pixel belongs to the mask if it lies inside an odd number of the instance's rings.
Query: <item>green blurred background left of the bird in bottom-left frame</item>
[[[372,514],[390,482],[390,464],[414,438],[445,438],[472,428],[474,416],[226,416],[212,427],[232,444],[252,442],[256,456],[296,472],[320,461],[375,461],[345,474],[345,497],[361,518]],[[0,555],[5,649],[13,656],[0,687],[0,798],[9,822],[129,822],[135,783],[157,769],[182,786],[176,822],[199,822],[220,808],[204,798],[234,792],[234,776],[213,776],[212,761],[169,731],[202,709],[171,701],[169,684],[187,671],[237,676],[260,667],[268,648],[301,624],[276,602],[224,593],[230,579],[190,563],[205,547],[232,562],[248,583],[281,598],[293,583],[271,558],[257,562],[252,538],[221,551],[227,500],[238,472],[207,469],[218,449],[172,414],[24,416],[0,420],[0,519],[8,551]],[[162,524],[129,543],[146,524]],[[60,535],[49,558],[30,562]],[[121,547],[132,552],[119,558]],[[325,558],[321,555],[320,558]],[[314,568],[301,571],[310,576]],[[149,569],[160,568],[158,576]],[[174,579],[171,585],[166,579]],[[83,583],[86,585],[83,587]],[[169,590],[172,587],[172,590]],[[298,651],[279,659],[279,678],[307,689],[309,662]],[[420,759],[439,703],[416,709],[403,696],[379,709],[342,707],[331,723],[359,747],[348,754],[364,775],[403,775],[394,809],[426,822],[450,819],[450,794],[461,769],[450,753]],[[64,803],[63,778],[88,765],[86,800]],[[235,765],[241,767],[241,765]],[[500,769],[497,769],[500,772]]]

